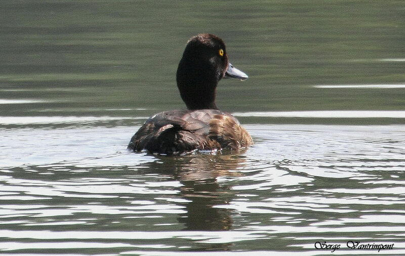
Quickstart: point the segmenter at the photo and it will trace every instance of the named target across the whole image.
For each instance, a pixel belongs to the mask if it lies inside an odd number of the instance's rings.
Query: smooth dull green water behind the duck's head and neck
[[[1,9],[0,82],[17,89],[2,98],[50,101],[3,115],[183,108],[175,72],[199,32],[222,37],[234,66],[250,75],[220,83],[224,110],[405,106],[403,88],[312,87],[403,84],[402,1],[4,1]]]

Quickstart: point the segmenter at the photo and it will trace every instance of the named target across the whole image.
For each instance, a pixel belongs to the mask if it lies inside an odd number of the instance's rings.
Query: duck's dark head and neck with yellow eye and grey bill
[[[212,34],[192,37],[177,69],[177,86],[187,108],[217,109],[216,88],[223,77],[240,80],[248,78],[229,63],[225,43],[221,38]]]

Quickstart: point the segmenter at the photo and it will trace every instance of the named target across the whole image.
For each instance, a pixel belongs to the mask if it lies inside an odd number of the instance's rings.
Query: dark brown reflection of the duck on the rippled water
[[[186,199],[186,212],[178,220],[184,223],[185,230],[229,230],[232,227],[230,211],[213,206],[227,204],[233,193],[228,186],[220,185],[217,177],[241,176],[242,173],[232,170],[241,168],[244,163],[243,156],[219,154],[162,157],[159,162],[147,163],[146,166],[148,170],[173,173],[182,184],[180,193]]]

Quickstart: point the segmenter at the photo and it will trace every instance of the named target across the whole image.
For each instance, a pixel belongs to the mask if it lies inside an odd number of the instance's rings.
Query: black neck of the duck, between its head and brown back
[[[215,104],[218,78],[210,68],[195,67],[180,62],[177,70],[177,87],[189,110],[218,109]]]

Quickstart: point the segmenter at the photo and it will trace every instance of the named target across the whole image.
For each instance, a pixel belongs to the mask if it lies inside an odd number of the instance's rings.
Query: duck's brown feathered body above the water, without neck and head
[[[149,118],[131,138],[128,148],[160,155],[195,149],[240,149],[252,137],[231,114],[219,110],[174,110]]]

